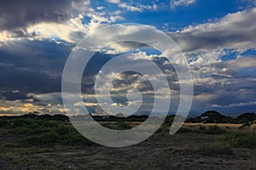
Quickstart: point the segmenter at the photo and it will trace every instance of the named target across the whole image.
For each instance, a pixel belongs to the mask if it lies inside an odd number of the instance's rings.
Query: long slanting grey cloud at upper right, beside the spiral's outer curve
[[[202,49],[236,48],[244,51],[255,48],[256,8],[228,14],[215,22],[189,26],[171,33],[184,52]]]

